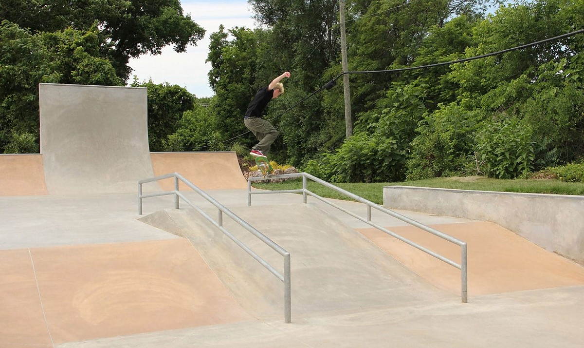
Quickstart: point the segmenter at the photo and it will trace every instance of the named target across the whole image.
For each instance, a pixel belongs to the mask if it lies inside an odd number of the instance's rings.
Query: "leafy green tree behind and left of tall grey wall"
[[[39,139],[40,82],[123,85],[99,52],[95,28],[35,34],[4,20],[0,25],[0,151],[38,151],[38,143],[22,143]]]

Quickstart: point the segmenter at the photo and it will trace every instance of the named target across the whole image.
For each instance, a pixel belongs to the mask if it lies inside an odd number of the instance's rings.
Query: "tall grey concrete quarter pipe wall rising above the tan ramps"
[[[40,84],[49,194],[134,192],[154,176],[146,88]]]

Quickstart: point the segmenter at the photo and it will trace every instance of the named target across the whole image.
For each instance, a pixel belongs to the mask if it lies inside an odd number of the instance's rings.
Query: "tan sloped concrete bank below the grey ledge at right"
[[[431,227],[468,247],[468,296],[584,285],[584,267],[551,253],[492,222]],[[460,264],[460,247],[413,226],[388,228]],[[404,266],[443,290],[460,294],[460,270],[380,230],[359,229]]]

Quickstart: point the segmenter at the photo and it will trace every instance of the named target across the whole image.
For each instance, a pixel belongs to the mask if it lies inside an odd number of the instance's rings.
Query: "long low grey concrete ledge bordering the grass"
[[[494,222],[584,264],[584,196],[386,186],[383,205]]]

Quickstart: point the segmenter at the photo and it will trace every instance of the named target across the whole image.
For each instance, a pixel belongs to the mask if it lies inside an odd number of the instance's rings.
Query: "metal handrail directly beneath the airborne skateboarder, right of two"
[[[364,199],[363,197],[359,197],[355,194],[352,194],[349,191],[346,191],[340,187],[336,187],[335,185],[331,184],[330,182],[326,182],[322,179],[319,179],[317,177],[315,177],[314,175],[308,174],[308,173],[292,173],[292,174],[281,174],[281,175],[271,175],[269,178],[270,179],[286,179],[286,178],[298,178],[298,177],[302,177],[302,189],[283,189],[283,190],[274,190],[274,191],[254,191],[252,192],[252,181],[262,181],[262,180],[266,180],[265,177],[249,177],[248,178],[248,205],[252,205],[252,195],[253,194],[277,194],[277,193],[302,193],[303,194],[303,201],[304,203],[307,202],[307,195],[311,195],[312,197],[315,197],[317,199],[319,199],[322,202],[325,202],[328,205],[333,206],[334,208],[339,209],[340,211],[343,211],[351,216],[353,216],[356,219],[361,220],[362,222],[367,223],[370,226],[373,226],[374,228],[381,230],[382,232],[387,233],[390,236],[393,236],[399,240],[401,240],[402,242],[405,242],[413,247],[415,247],[416,249],[422,250],[423,252],[425,252],[426,254],[429,254],[430,256],[436,257],[436,259],[439,259],[440,261],[444,261],[445,263],[449,264],[450,266],[454,266],[456,268],[458,268],[461,271],[461,298],[462,298],[462,302],[466,303],[468,302],[468,265],[467,265],[467,243],[463,242],[460,239],[457,239],[453,236],[449,236],[446,233],[440,232],[439,230],[433,229],[429,226],[424,225],[423,223],[420,223],[416,220],[413,220],[411,218],[408,218],[407,216],[401,215],[398,212],[394,212],[390,209],[385,208],[384,206],[375,204],[371,201],[368,201],[367,199]],[[333,202],[329,201],[328,199],[322,198],[319,195],[315,194],[314,192],[311,192],[308,190],[307,188],[307,179],[310,179],[312,181],[317,182],[318,184],[324,185],[325,187],[328,187],[330,189],[333,189],[334,191],[337,191],[341,194],[346,195],[347,197],[350,197],[352,199],[354,199],[357,202],[363,203],[367,205],[367,219],[362,218],[361,216],[348,211],[345,208],[342,208],[339,205],[334,204]],[[457,264],[456,262],[447,259],[446,257],[430,250],[427,249],[426,247],[423,247],[421,245],[419,245],[418,243],[412,242],[409,239],[406,239],[405,237],[402,237],[400,235],[398,235],[395,232],[392,232],[386,228],[384,228],[383,226],[377,225],[377,223],[373,223],[371,222],[371,208],[377,209],[380,212],[386,213],[387,215],[393,216],[394,218],[397,218],[399,220],[402,220],[403,222],[408,223],[409,225],[415,226],[419,229],[425,230],[426,232],[432,233],[432,235],[440,237],[444,240],[447,240],[448,242],[454,243],[458,246],[460,246],[461,248],[461,264]]]

